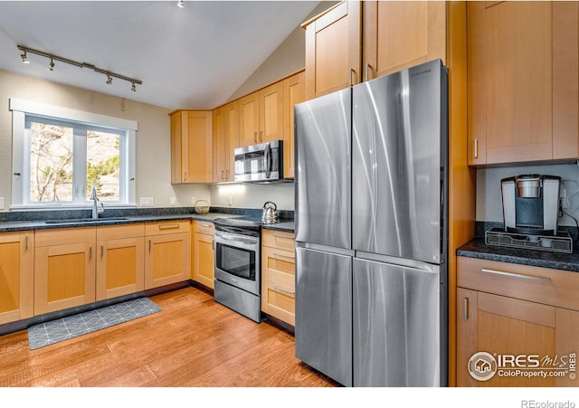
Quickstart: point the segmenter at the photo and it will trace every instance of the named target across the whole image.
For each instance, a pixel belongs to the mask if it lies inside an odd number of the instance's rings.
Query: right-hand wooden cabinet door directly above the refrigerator
[[[365,81],[446,57],[446,4],[363,2]]]

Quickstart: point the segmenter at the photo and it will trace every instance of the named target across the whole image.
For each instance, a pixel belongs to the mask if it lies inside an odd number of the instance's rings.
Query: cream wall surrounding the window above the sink
[[[207,185],[171,185],[169,110],[51,81],[0,71],[0,197],[9,211],[12,202],[12,112],[8,100],[18,98],[62,108],[136,120],[137,202],[153,197],[155,207],[166,207],[170,197],[189,206],[190,197],[209,200]]]

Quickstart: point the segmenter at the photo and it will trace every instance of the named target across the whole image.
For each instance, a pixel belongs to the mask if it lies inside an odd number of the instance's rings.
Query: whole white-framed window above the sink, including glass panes
[[[10,100],[13,207],[134,205],[135,122]]]

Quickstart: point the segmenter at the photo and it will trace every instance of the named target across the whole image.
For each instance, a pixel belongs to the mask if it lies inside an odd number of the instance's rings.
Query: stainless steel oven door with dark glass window
[[[215,232],[215,279],[260,294],[260,239]]]

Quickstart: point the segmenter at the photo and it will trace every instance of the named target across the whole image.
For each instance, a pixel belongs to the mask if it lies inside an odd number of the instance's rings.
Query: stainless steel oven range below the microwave
[[[214,299],[261,322],[261,222],[216,218]]]

